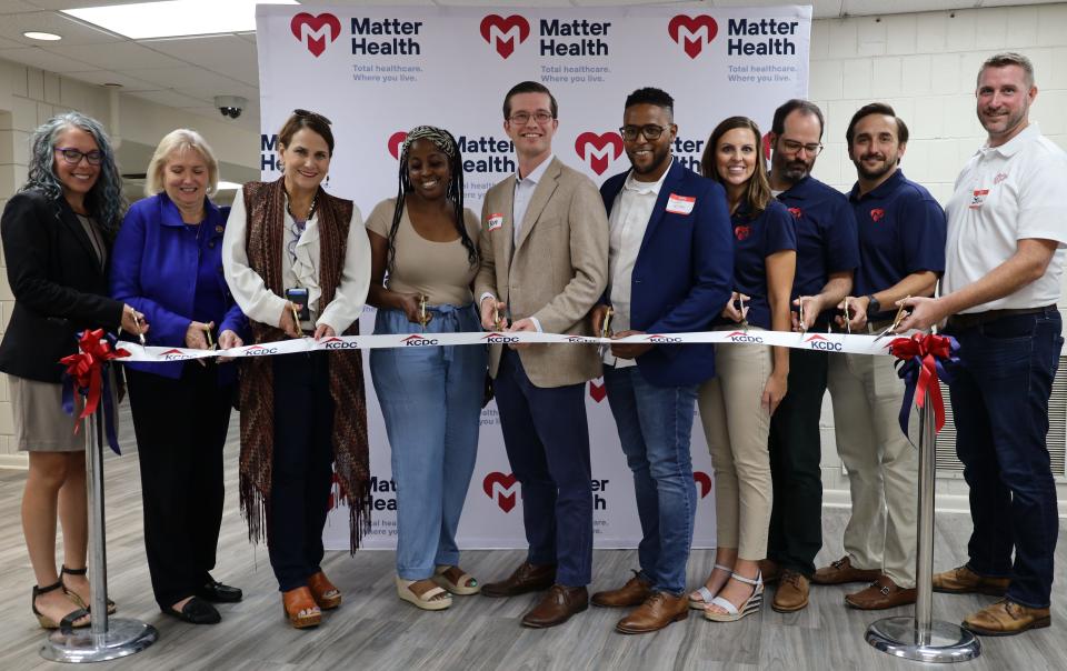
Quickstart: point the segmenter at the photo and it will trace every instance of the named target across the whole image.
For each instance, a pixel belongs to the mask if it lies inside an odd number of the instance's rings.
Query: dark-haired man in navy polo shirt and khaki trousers
[[[845,301],[852,332],[876,333],[891,326],[896,301],[934,293],[945,270],[945,213],[929,191],[900,171],[908,127],[891,107],[860,108],[845,138],[858,178],[849,201],[860,256],[858,298]],[[845,528],[845,557],[816,571],[814,581],[855,582],[880,570],[845,602],[864,610],[914,603],[918,458],[898,423],[904,381],[890,357],[835,354],[829,388],[852,514]]]

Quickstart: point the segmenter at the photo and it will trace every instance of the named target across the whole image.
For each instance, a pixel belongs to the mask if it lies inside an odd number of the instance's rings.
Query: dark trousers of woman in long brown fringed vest
[[[273,358],[275,444],[267,549],[278,588],[308,583],[322,562],[333,483],[329,352]]]

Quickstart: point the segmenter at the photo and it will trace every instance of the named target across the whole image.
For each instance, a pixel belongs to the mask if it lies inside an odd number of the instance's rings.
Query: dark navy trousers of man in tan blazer
[[[585,384],[535,387],[505,348],[497,408],[511,470],[522,487],[522,519],[535,565],[557,564],[556,582],[592,581],[592,472]]]

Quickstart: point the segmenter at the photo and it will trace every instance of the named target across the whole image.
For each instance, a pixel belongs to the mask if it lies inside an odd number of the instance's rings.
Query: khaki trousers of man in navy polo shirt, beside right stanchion
[[[880,569],[898,587],[915,587],[918,450],[900,432],[904,380],[893,357],[831,354],[837,453],[848,469],[852,514],[845,552],[857,569]],[[915,409],[908,428],[918,439]],[[916,442],[918,444],[918,442]]]

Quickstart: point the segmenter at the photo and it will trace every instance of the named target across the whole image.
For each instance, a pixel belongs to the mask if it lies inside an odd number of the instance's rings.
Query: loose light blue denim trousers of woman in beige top
[[[480,331],[473,306],[429,309],[429,333]],[[400,310],[379,310],[375,333],[415,333]],[[459,563],[456,529],[478,453],[486,347],[371,350],[397,484],[397,573],[422,580]]]

